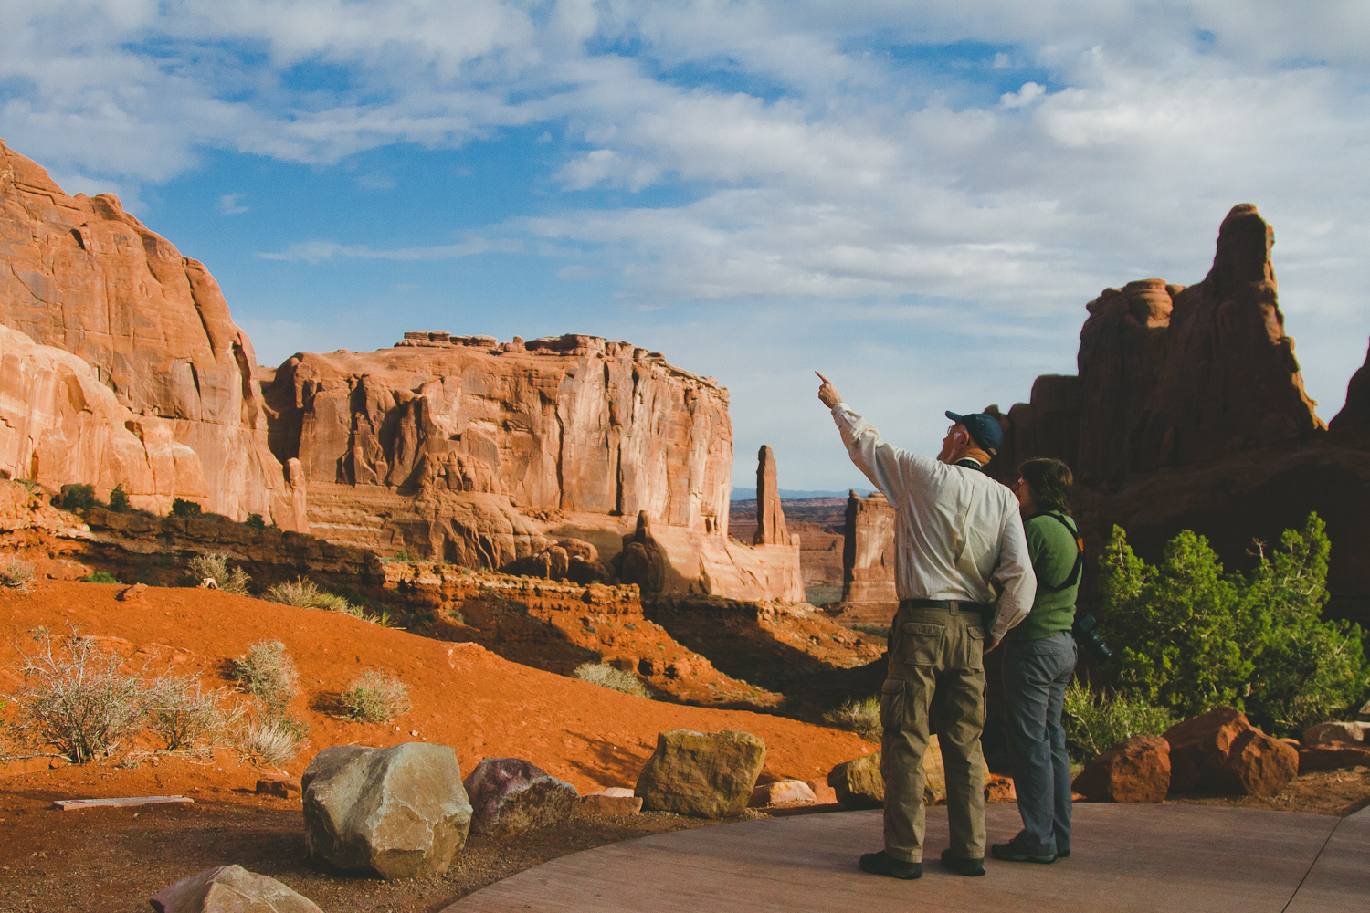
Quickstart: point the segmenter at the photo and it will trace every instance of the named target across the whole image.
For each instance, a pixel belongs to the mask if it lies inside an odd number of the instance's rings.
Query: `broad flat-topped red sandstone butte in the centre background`
[[[410,333],[296,355],[263,389],[329,541],[504,568],[580,539],[611,564],[645,523],[647,591],[803,598],[797,546],[727,539],[727,391],[659,353]]]

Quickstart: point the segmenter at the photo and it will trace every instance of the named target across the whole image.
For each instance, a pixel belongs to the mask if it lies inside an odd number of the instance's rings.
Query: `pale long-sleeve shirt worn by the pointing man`
[[[895,508],[899,598],[989,604],[1001,590],[989,631],[1001,641],[1037,593],[1014,493],[978,470],[885,443],[845,402],[833,407],[833,420],[852,463]]]

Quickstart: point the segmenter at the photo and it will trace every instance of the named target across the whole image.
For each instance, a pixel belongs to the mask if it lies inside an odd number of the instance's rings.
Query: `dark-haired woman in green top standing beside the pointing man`
[[[1070,856],[1070,756],[1060,709],[1075,671],[1075,591],[1085,557],[1070,519],[1070,467],[1028,460],[1012,485],[1037,574],[1032,613],[1004,638],[1008,754],[1023,830],[991,853],[1011,862],[1055,862]]]

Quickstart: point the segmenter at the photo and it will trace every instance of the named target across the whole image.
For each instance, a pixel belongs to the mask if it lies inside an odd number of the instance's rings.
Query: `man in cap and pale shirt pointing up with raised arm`
[[[881,441],[832,382],[818,376],[818,398],[832,409],[848,456],[896,512],[899,610],[880,698],[885,849],[862,856],[860,868],[897,879],[923,873],[923,751],[932,713],[951,825],[941,864],[960,875],[984,875],[984,654],[1028,617],[1037,590],[1018,500],[984,472],[1003,433],[984,412],[948,412],[954,424],[932,460]]]

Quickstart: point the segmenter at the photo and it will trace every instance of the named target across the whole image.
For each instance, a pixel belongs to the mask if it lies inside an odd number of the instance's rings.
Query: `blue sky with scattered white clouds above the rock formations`
[[[1330,419],[1370,309],[1370,7],[0,0],[0,137],[222,283],[259,360],[592,333],[732,393],[734,483],[1073,372],[1255,203]]]

